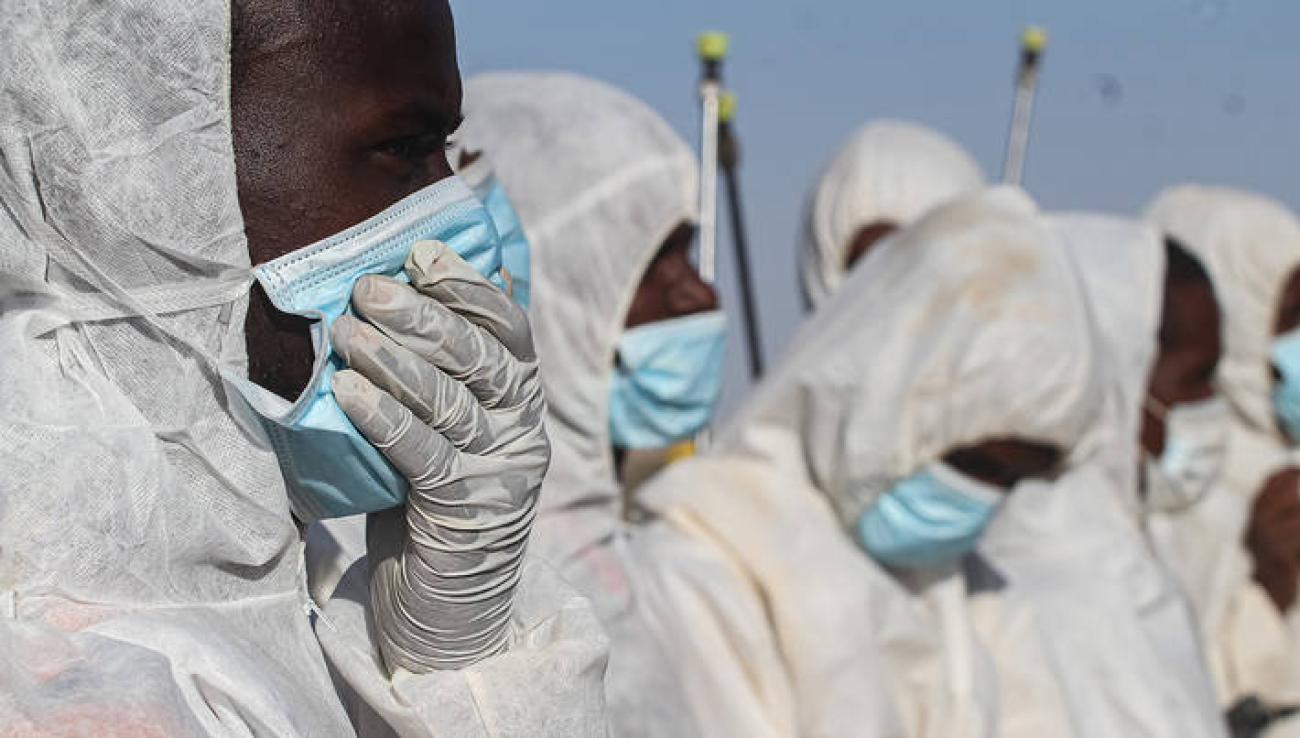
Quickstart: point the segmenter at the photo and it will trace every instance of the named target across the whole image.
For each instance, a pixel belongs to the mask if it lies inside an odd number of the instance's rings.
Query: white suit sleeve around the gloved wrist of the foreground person
[[[506,651],[468,669],[390,676],[369,622],[368,560],[338,582],[316,634],[360,735],[530,738],[608,734],[608,643],[590,603],[536,559],[515,590]]]

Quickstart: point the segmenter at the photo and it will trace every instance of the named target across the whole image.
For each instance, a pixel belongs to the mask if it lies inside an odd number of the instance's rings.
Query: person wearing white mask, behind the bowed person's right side
[[[1222,735],[1186,594],[1143,530],[1153,507],[1199,494],[1222,460],[1206,378],[1214,294],[1193,259],[1139,221],[1065,213],[1049,225],[1080,275],[1104,396],[1071,469],[1009,499],[985,531],[979,557],[996,577],[968,576],[997,667],[998,734]],[[1208,344],[1180,333],[1190,316],[1210,318]],[[1153,401],[1174,408],[1156,429],[1164,451],[1143,446]]]

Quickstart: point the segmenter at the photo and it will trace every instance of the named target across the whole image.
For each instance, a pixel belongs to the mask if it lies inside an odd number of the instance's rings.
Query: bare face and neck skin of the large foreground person
[[[234,27],[234,152],[254,264],[451,175],[462,88],[445,0],[242,0]],[[250,378],[296,398],[312,373],[308,325],[255,287]]]

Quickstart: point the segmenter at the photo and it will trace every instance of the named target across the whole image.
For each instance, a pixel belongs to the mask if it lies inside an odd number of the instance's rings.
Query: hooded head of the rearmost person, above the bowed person
[[[916,123],[872,121],[846,140],[809,196],[800,274],[810,309],[881,238],[984,186],[956,142]]]

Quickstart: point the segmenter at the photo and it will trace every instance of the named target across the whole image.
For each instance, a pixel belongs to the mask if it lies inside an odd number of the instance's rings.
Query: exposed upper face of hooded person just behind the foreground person
[[[696,229],[681,223],[664,239],[641,277],[624,327],[718,309],[718,292],[699,278],[690,262],[694,238]]]

